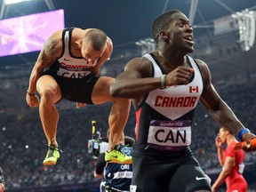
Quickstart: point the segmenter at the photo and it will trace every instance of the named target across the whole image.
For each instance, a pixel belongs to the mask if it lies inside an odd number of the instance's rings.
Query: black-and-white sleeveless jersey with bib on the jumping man
[[[75,57],[71,52],[72,31],[74,28],[65,28],[62,32],[62,52],[60,58],[50,67],[57,76],[68,78],[83,78],[91,74],[91,68],[100,60],[84,60],[82,57]]]

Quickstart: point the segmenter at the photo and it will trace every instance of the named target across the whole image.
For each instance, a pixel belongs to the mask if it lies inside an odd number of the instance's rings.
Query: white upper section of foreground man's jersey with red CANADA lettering
[[[148,58],[154,67],[154,77],[163,75],[161,68],[157,65],[156,60],[150,54],[144,57]],[[196,104],[203,92],[203,78],[196,65],[195,60],[188,56],[188,64],[194,69],[194,75],[188,84],[170,86],[166,89],[156,89],[149,92],[146,103],[154,108],[158,113],[166,116],[170,120],[176,120],[184,116],[189,111],[196,108]]]

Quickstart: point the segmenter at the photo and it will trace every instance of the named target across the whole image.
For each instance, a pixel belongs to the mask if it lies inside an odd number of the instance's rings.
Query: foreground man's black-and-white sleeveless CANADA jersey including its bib
[[[152,63],[152,76],[164,74],[153,54],[144,57]],[[149,92],[136,109],[135,148],[180,150],[189,146],[194,109],[203,92],[203,77],[196,61],[189,56],[187,60],[194,69],[188,84]]]

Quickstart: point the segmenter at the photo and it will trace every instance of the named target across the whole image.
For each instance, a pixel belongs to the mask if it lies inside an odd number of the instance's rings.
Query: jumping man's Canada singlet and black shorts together
[[[100,76],[92,76],[92,68],[97,65],[100,58],[89,62],[72,54],[73,29],[65,28],[63,30],[60,58],[55,60],[50,68],[44,70],[44,75],[53,76],[59,84],[61,99],[93,104],[92,91]]]

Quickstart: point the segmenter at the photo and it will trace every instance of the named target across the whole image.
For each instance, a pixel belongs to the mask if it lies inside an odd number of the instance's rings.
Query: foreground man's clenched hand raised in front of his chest
[[[166,86],[188,84],[188,81],[193,74],[193,70],[193,68],[186,68],[182,66],[175,68],[165,76]]]

